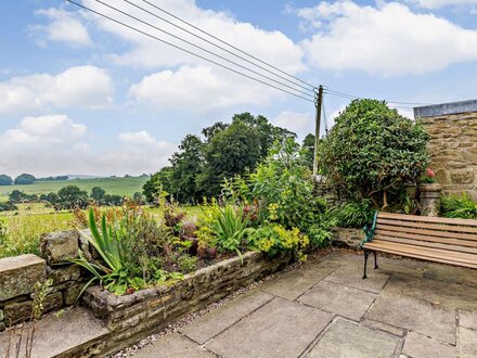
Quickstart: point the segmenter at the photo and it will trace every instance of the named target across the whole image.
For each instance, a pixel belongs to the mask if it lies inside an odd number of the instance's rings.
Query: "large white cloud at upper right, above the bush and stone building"
[[[477,30],[390,2],[381,8],[351,1],[321,2],[299,15],[319,22],[302,42],[312,65],[399,76],[425,74],[477,61]]]

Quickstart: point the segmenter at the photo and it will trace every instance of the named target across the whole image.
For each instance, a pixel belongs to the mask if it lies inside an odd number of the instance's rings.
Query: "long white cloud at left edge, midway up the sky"
[[[12,77],[0,82],[0,114],[107,107],[113,103],[113,80],[95,66],[70,67],[57,75]]]

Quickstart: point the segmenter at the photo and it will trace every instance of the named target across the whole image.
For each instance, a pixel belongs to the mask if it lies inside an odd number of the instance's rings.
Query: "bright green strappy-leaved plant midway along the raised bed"
[[[249,228],[250,220],[244,215],[242,207],[234,209],[227,205],[220,209],[217,220],[212,225],[212,231],[217,235],[217,242],[223,251],[235,252],[243,261],[241,250],[246,246],[245,239],[255,229]]]

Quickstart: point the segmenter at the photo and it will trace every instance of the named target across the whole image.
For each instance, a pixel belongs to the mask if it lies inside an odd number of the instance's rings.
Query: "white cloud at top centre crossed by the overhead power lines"
[[[212,57],[210,54],[202,52],[196,48],[193,48],[177,39],[173,39],[147,25],[132,21],[126,15],[121,15],[115,12],[114,10],[102,5],[101,3],[98,3],[94,0],[83,0],[82,2],[86,5],[90,7],[91,9],[107,14],[114,18],[124,21],[128,24],[131,24],[134,27],[147,31],[156,37],[163,38],[178,46],[184,47],[191,51],[198,52],[207,57]],[[201,41],[199,39],[154,17],[153,15],[150,15],[134,7],[131,7],[125,1],[112,0],[112,1],[107,1],[107,3],[127,12],[128,14],[143,18],[144,21],[157,27],[160,27],[162,29],[165,29],[177,36],[183,37],[193,42],[201,43],[201,46],[203,46],[206,49],[212,50],[215,52],[221,52],[221,54],[231,57],[230,54],[206,42]],[[286,37],[281,31],[278,30],[269,31],[269,30],[260,29],[249,23],[238,22],[230,14],[224,12],[203,10],[196,5],[194,0],[175,0],[175,1],[158,0],[158,1],[154,1],[154,3],[164,9],[167,9],[171,13],[184,20],[192,22],[195,26],[198,26],[205,29],[206,31],[214,34],[220,37],[221,39],[230,43],[233,43],[238,48],[246,49],[247,52],[254,54],[255,56],[263,59],[265,61],[269,61],[272,64],[279,66],[280,68],[283,68],[292,73],[298,73],[299,71],[305,68],[301,62],[304,55],[302,50],[300,49],[299,46],[295,44],[288,37]],[[168,17],[167,15],[150,7],[145,2],[141,2],[140,5],[146,8],[149,11],[153,13],[156,13],[157,15],[167,17],[168,20],[172,20],[171,17]],[[102,28],[103,30],[112,33],[114,35],[117,35],[123,40],[126,40],[128,43],[132,44],[131,50],[128,50],[124,53],[112,55],[113,59],[119,64],[149,67],[149,68],[177,66],[184,64],[204,65],[203,60],[183,53],[180,50],[176,50],[167,44],[163,44],[154,39],[138,34],[131,29],[115,24],[108,20],[100,18],[99,16],[94,16],[94,15],[91,15],[90,18],[91,21],[98,23],[99,28]],[[177,21],[173,22],[178,23]],[[180,24],[180,25],[186,27],[186,25],[184,24]],[[196,30],[194,31],[197,33]],[[201,35],[205,36],[204,34]],[[223,47],[223,44],[221,46]],[[212,59],[218,60],[217,57],[212,57]]]

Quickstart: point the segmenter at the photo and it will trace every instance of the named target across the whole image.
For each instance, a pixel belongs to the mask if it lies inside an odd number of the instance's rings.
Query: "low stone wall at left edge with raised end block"
[[[0,259],[0,331],[30,320],[36,283],[51,279],[43,302],[43,314],[73,305],[82,287],[76,258],[80,244],[77,231],[46,234],[41,255],[22,255]]]

